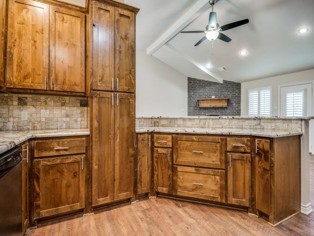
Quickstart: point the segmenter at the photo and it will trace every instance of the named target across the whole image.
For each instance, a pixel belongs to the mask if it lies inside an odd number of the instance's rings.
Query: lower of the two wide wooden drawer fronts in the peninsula
[[[174,194],[225,202],[225,171],[174,166]]]

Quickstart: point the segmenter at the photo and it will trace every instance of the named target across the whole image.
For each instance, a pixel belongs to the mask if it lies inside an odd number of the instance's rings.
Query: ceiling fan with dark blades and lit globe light
[[[244,19],[244,20],[236,21],[236,22],[224,25],[224,26],[219,26],[219,24],[217,23],[216,12],[213,11],[214,4],[216,2],[217,0],[209,0],[209,4],[211,5],[211,12],[209,13],[209,23],[206,26],[205,30],[181,31],[181,33],[206,33],[206,35],[203,38],[201,38],[194,46],[200,45],[206,39],[213,41],[216,38],[219,38],[220,40],[229,43],[231,41],[231,38],[223,34],[221,31],[225,31],[225,30],[232,29],[232,28],[249,23],[249,19]]]

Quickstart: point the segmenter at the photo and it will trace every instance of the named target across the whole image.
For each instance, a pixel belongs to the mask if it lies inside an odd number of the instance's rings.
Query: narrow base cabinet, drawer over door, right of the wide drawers
[[[227,138],[227,202],[251,206],[251,139]]]

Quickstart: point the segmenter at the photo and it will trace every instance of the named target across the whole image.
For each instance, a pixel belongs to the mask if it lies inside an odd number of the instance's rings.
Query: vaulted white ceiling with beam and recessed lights
[[[125,3],[140,8],[136,49],[188,77],[241,83],[314,68],[314,0],[219,0],[214,11],[220,26],[246,18],[250,22],[224,31],[232,38],[229,43],[206,40],[196,47],[205,34],[180,31],[205,30],[211,11],[208,0]],[[309,31],[298,34],[304,26]],[[239,55],[243,49],[246,56]],[[222,66],[227,70],[217,70]]]

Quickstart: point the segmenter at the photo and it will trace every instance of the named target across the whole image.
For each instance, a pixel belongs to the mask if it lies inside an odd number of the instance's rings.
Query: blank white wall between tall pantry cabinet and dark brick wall
[[[144,51],[136,51],[136,117],[187,116],[187,78]]]

